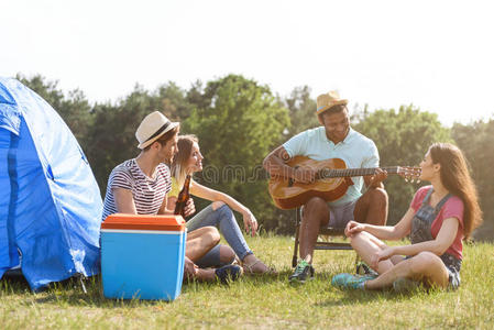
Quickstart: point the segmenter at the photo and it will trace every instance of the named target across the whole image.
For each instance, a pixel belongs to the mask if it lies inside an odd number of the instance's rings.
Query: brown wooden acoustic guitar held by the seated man
[[[294,168],[308,167],[315,169],[316,180],[311,184],[296,183],[292,178],[272,176],[268,183],[270,195],[274,204],[281,209],[293,209],[305,205],[312,197],[320,197],[327,201],[342,197],[349,186],[353,185],[352,176],[373,175],[376,168],[347,168],[344,161],[330,158],[314,161],[305,156],[295,156],[288,163]],[[392,166],[381,167],[387,174],[398,174],[406,179],[417,179],[419,167]]]

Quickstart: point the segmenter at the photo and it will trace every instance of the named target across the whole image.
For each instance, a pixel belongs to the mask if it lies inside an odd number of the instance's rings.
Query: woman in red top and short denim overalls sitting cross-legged
[[[432,144],[420,168],[420,179],[431,186],[417,190],[396,226],[350,221],[345,228],[353,249],[378,276],[339,274],[332,278],[333,286],[399,289],[422,283],[426,287],[458,288],[462,240],[482,221],[475,185],[462,152],[449,143]],[[408,234],[409,245],[388,246],[381,241]]]

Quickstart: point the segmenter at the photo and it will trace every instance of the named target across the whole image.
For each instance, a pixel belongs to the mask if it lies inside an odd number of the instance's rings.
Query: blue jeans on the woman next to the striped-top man
[[[252,254],[252,251],[249,249],[249,245],[240,231],[232,210],[227,205],[223,205],[216,210],[213,210],[212,205],[210,205],[186,223],[189,232],[206,226],[219,228],[220,233],[240,260]],[[199,267],[222,266],[220,262],[220,244],[212,248],[205,256],[198,260],[196,264]]]

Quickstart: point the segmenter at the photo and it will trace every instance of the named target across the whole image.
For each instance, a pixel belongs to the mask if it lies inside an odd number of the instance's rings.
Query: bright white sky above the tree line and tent
[[[0,76],[40,74],[91,102],[135,84],[240,74],[349,109],[414,105],[444,125],[494,117],[491,1],[0,1]]]

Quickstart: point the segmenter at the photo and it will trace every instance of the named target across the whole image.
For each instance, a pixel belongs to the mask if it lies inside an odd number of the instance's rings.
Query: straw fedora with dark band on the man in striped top
[[[169,121],[160,111],[154,111],[147,114],[135,132],[135,138],[139,141],[139,148],[144,148],[151,145],[154,141],[163,136],[166,132],[178,127],[178,122]]]

